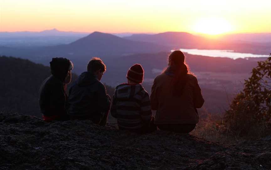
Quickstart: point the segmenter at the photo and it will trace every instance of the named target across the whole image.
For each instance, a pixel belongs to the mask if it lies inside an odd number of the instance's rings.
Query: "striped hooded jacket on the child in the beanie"
[[[115,89],[111,115],[117,118],[119,127],[140,129],[151,120],[149,94],[140,84],[120,84]]]

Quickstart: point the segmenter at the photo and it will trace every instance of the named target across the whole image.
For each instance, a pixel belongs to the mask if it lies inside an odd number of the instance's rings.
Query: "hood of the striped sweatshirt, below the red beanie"
[[[120,100],[129,100],[143,90],[144,88],[141,86],[141,84],[120,84],[116,87],[115,97]]]

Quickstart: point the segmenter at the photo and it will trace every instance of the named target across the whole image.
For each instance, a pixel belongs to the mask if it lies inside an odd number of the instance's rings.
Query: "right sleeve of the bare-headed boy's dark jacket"
[[[97,91],[97,103],[101,112],[108,112],[110,109],[110,97],[106,94],[106,89],[101,83]]]

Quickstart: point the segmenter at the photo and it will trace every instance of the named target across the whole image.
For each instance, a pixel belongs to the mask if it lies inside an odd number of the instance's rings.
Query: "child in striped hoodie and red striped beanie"
[[[153,124],[149,94],[140,83],[144,70],[140,64],[130,67],[126,78],[128,83],[116,87],[112,99],[111,115],[118,120],[120,130],[147,133],[157,130]]]

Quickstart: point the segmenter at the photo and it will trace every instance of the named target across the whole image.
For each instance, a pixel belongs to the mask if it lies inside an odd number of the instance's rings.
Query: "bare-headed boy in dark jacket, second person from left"
[[[87,72],[83,72],[69,90],[67,111],[71,120],[92,120],[105,126],[110,109],[110,96],[100,82],[106,66],[100,58],[88,62]]]

